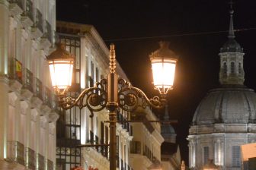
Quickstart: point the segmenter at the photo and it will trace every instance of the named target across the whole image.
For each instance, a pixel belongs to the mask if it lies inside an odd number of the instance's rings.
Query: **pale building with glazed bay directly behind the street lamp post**
[[[91,25],[75,24],[58,21],[57,32],[59,41],[66,45],[66,50],[75,55],[75,67],[71,93],[77,97],[82,90],[94,87],[96,82],[106,78],[109,73],[109,49],[101,36]],[[117,63],[117,74],[128,80],[122,68]],[[117,168],[130,167],[129,150],[132,140],[132,126],[123,122],[129,118],[129,113],[118,110],[117,119]],[[62,111],[57,129],[56,162],[59,169],[69,169],[82,165],[84,169],[109,169],[108,112],[103,109],[91,112],[88,108],[72,108]],[[78,148],[78,145],[100,145]]]

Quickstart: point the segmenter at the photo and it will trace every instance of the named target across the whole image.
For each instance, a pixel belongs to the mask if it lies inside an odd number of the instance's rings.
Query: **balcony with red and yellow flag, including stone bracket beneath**
[[[18,61],[16,58],[9,58],[8,77],[10,79],[11,89],[20,90],[23,77],[21,61]]]

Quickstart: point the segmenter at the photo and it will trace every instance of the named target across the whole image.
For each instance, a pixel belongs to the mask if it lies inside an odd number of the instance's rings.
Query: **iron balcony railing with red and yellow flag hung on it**
[[[21,61],[16,58],[9,58],[9,77],[22,83],[23,68]]]

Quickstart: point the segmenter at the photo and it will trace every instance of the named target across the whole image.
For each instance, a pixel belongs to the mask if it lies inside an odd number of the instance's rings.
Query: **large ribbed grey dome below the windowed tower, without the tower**
[[[210,90],[194,114],[193,124],[256,123],[256,93],[246,87]]]

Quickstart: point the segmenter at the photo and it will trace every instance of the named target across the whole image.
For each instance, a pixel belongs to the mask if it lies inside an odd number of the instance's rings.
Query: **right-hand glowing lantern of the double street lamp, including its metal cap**
[[[168,90],[173,88],[174,75],[178,56],[168,48],[169,42],[159,42],[160,49],[149,55],[152,72],[153,83],[156,90],[160,94],[165,95]]]

